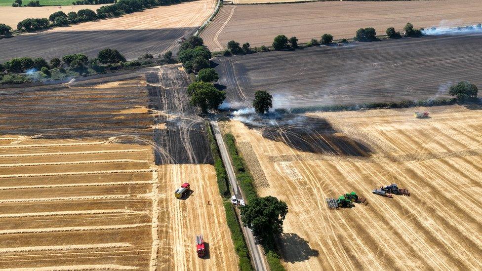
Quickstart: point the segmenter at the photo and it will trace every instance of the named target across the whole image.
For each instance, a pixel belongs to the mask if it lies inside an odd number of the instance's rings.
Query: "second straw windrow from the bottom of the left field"
[[[131,247],[129,243],[101,243],[101,244],[84,244],[84,245],[64,245],[64,246],[26,246],[26,247],[8,247],[0,248],[1,253],[18,253],[18,252],[34,252],[34,251],[59,251],[59,250],[84,250],[98,248],[121,248]]]

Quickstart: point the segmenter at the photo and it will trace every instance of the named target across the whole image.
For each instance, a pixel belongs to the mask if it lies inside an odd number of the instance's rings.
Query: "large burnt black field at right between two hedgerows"
[[[232,108],[269,91],[275,108],[447,98],[461,80],[482,84],[482,35],[404,38],[215,58]],[[410,53],[407,53],[410,52]]]

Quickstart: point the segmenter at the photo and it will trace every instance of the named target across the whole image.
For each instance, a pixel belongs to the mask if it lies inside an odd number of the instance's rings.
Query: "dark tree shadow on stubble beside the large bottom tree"
[[[305,239],[296,233],[283,233],[278,240],[281,258],[289,263],[304,262],[310,257],[318,257],[320,253],[312,249]]]

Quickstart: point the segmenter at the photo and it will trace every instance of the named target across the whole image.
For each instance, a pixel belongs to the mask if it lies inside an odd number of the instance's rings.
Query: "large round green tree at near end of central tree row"
[[[220,91],[212,83],[195,82],[188,86],[188,94],[191,96],[189,103],[199,106],[203,113],[209,109],[218,109],[226,98],[226,92]]]

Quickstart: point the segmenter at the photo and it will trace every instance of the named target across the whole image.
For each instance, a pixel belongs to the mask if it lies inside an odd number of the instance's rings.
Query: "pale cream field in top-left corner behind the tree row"
[[[1,2],[1,0],[0,0]],[[11,26],[13,29],[17,28],[18,22],[27,18],[48,18],[50,14],[63,11],[65,14],[74,11],[78,12],[80,9],[92,9],[105,5],[72,5],[72,1],[67,1],[66,6],[59,8],[58,6],[40,6],[40,7],[12,7],[12,1],[9,1],[9,6],[1,6],[0,3],[0,23]],[[42,1],[40,3],[43,4]]]

